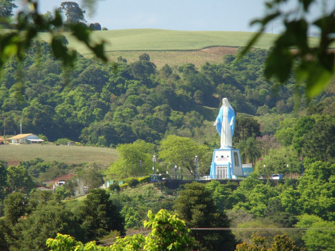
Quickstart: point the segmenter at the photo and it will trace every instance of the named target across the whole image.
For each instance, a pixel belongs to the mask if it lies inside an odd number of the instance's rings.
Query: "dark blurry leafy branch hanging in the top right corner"
[[[287,0],[272,0],[266,3],[268,14],[251,24],[260,24],[260,30],[250,39],[242,55],[260,39],[262,32],[275,19],[283,21],[285,30],[274,43],[265,63],[265,76],[276,77],[283,84],[294,72],[299,83],[306,83],[307,97],[320,94],[331,83],[334,76],[334,52],[329,49],[335,41],[335,9],[323,13],[309,23],[308,14],[312,12],[316,0],[297,0],[298,7],[285,12]],[[323,2],[322,8],[325,8]],[[315,26],[320,30],[318,45],[308,43],[309,29]],[[297,62],[297,63],[296,63]]]

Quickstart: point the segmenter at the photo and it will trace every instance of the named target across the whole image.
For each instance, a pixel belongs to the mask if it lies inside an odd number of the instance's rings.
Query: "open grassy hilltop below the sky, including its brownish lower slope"
[[[69,33],[68,47],[90,57],[92,54],[83,43],[77,41]],[[240,46],[245,46],[253,36],[253,32],[223,31],[180,31],[157,29],[104,30],[93,32],[95,41],[106,41],[106,54],[111,61],[124,57],[129,63],[138,60],[143,53],[149,54],[157,69],[164,64],[171,67],[185,63],[193,63],[197,68],[204,63],[218,63],[224,54],[235,54]],[[48,41],[47,33],[39,37]],[[265,33],[256,43],[256,48],[269,48],[278,34]],[[316,38],[310,39],[316,43]]]

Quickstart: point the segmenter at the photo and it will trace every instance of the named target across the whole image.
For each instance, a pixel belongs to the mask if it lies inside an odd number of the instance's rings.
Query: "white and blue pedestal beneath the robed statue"
[[[222,148],[213,150],[211,163],[211,179],[237,179],[243,177],[240,150]]]

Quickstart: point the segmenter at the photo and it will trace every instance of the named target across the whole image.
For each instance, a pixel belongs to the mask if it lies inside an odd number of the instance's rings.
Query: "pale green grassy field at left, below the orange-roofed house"
[[[95,148],[90,146],[70,145],[0,145],[0,159],[9,165],[17,165],[19,161],[35,158],[44,161],[59,161],[68,164],[95,162],[104,167],[117,159],[117,152],[111,148]]]

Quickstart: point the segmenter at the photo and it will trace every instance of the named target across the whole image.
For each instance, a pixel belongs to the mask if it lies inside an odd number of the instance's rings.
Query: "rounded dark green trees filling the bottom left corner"
[[[46,239],[57,233],[84,242],[101,239],[113,231],[124,235],[124,219],[105,190],[90,190],[76,210],[60,199],[50,191],[9,194],[0,222],[0,245],[6,247],[3,250],[47,250]]]

